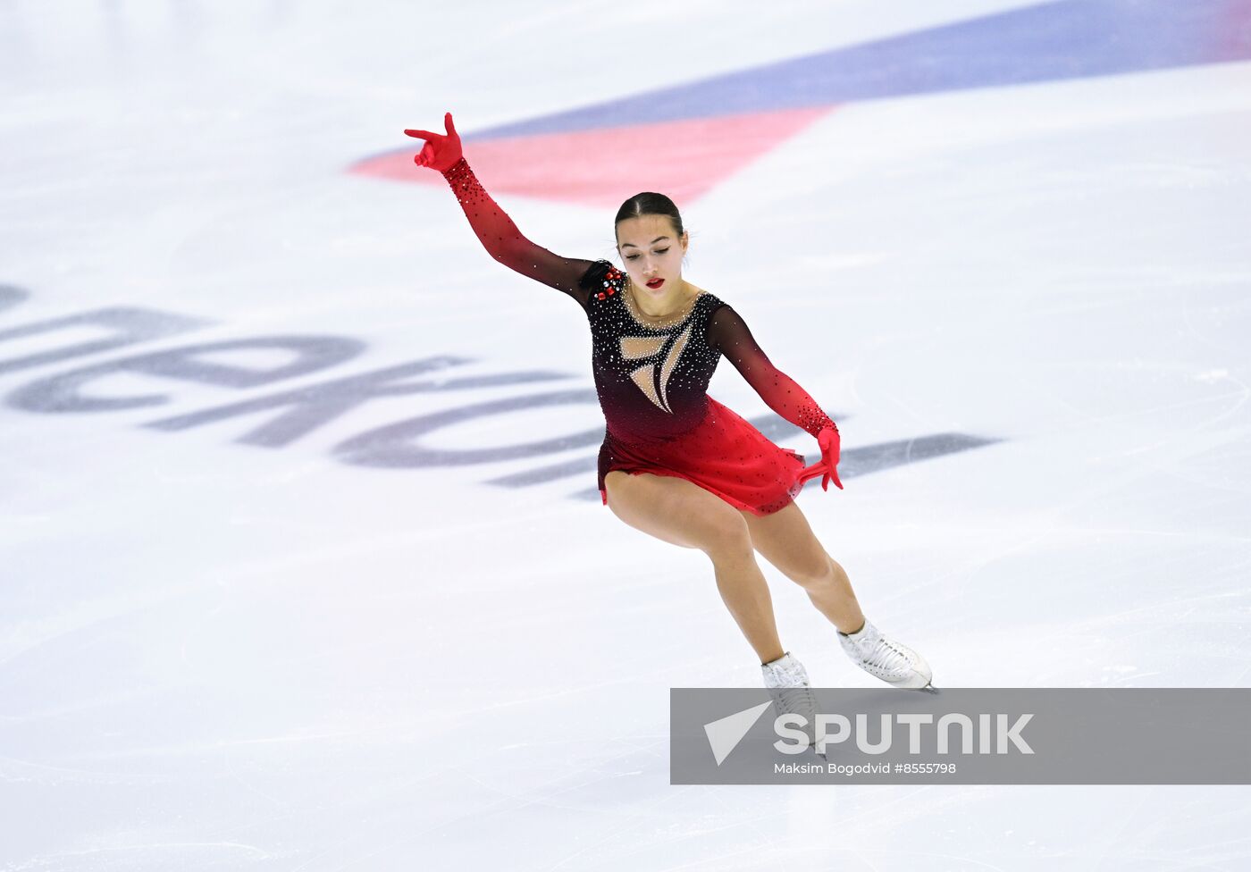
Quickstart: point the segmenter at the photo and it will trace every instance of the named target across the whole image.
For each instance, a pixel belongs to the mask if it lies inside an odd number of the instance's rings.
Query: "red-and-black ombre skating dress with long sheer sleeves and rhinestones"
[[[704,292],[664,322],[647,320],[629,276],[607,260],[562,258],[525,239],[462,158],[444,173],[487,250],[500,263],[573,297],[593,339],[604,413],[598,483],[613,469],[684,478],[731,505],[766,515],[799,493],[803,457],[778,448],[708,395],[722,355],[771,409],[817,435],[834,423],[778,370],[734,309]]]

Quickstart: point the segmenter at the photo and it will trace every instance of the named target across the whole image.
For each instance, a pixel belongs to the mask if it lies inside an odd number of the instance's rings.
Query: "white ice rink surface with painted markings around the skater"
[[[403,134],[565,256],[673,196],[934,684],[1247,687],[1251,0],[8,0],[0,71],[0,872],[1251,866],[1246,787],[671,786],[758,661]]]

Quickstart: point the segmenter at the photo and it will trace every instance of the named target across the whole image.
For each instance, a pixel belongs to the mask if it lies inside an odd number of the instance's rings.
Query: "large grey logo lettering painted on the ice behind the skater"
[[[0,285],[0,319],[30,294]],[[101,358],[68,369],[40,374],[10,388],[5,403],[11,409],[38,414],[123,413],[168,407],[178,399],[170,383],[191,395],[230,392],[230,402],[199,405],[164,414],[139,424],[154,430],[178,432],[235,422],[244,428],[236,443],[259,448],[284,448],[314,432],[337,424],[368,404],[409,398],[410,404],[435,410],[369,427],[330,447],[339,462],[373,468],[420,469],[517,460],[527,467],[487,479],[487,484],[523,488],[563,478],[593,480],[597,453],[604,438],[599,425],[549,439],[489,447],[433,447],[425,440],[457,424],[529,413],[560,405],[598,407],[592,387],[557,387],[499,397],[498,388],[529,388],[579,378],[545,369],[479,372],[477,360],[454,354],[432,354],[374,369],[357,369],[335,378],[325,370],[344,369],[368,348],[360,339],[325,334],[279,334],[165,345],[134,353],[131,347],[163,343],[173,337],[216,325],[218,322],[140,307],[106,307],[35,320],[0,329],[0,378],[33,369],[59,367],[80,358]],[[128,352],[120,354],[123,350]],[[308,377],[319,374],[318,380]],[[275,389],[274,385],[286,383]],[[475,392],[490,390],[490,399]],[[241,398],[240,398],[241,394]],[[465,399],[465,395],[469,395]],[[449,403],[449,398],[459,400]],[[195,402],[195,400],[191,400]],[[373,410],[377,418],[377,409]],[[368,413],[365,413],[368,414]],[[597,408],[598,417],[598,408]],[[798,428],[777,415],[751,419],[764,435],[778,439]],[[509,432],[505,427],[495,429]],[[941,433],[844,450],[842,477],[913,463],[966,450],[997,439]],[[577,449],[582,457],[535,463],[550,454]],[[597,488],[574,494],[599,499]]]

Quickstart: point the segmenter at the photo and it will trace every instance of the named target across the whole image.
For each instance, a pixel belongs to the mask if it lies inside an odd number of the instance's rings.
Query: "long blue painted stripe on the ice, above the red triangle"
[[[1251,0],[1066,0],[833,49],[465,135],[772,113],[1251,58]]]

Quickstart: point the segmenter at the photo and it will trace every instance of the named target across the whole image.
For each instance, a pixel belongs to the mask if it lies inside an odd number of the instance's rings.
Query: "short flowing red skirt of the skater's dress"
[[[804,460],[778,448],[731,408],[708,398],[708,413],[681,435],[626,443],[608,433],[599,449],[599,495],[608,504],[604,475],[613,469],[632,475],[653,473],[684,478],[734,508],[773,514],[794,499],[803,484]]]

